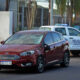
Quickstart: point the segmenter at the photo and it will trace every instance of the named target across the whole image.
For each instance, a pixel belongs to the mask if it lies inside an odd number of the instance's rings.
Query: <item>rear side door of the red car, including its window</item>
[[[61,34],[59,34],[57,32],[53,32],[52,36],[53,36],[54,46],[55,46],[54,56],[55,56],[55,60],[58,61],[58,60],[62,59],[64,43],[63,43]]]

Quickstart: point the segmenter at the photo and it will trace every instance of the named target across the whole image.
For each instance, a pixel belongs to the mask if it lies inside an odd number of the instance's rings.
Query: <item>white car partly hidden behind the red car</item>
[[[74,56],[80,53],[80,31],[69,26],[41,26],[40,30],[51,30],[62,33],[69,42],[69,49]]]

